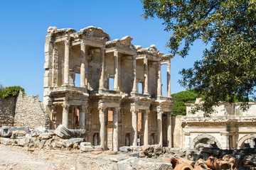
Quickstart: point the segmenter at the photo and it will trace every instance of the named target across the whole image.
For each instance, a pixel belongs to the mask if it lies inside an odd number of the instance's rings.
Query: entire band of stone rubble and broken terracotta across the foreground
[[[128,155],[128,159],[113,158],[117,169],[254,169],[256,149],[223,150],[204,147],[201,150],[175,149],[149,145],[142,147],[119,147],[119,152],[103,151],[87,141],[85,130],[70,130],[59,125],[56,130],[46,128],[8,127],[0,128],[0,143],[40,149],[77,150],[90,154]],[[73,151],[72,151],[73,152]],[[127,156],[126,156],[127,157]],[[149,159],[150,158],[150,159]],[[155,169],[155,168],[153,168]],[[255,168],[256,169],[256,168]]]

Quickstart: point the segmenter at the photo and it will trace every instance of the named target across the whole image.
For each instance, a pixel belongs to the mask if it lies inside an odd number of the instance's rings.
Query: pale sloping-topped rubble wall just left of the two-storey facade
[[[50,128],[48,113],[43,110],[43,103],[36,96],[19,94],[16,101],[14,122],[15,126]]]

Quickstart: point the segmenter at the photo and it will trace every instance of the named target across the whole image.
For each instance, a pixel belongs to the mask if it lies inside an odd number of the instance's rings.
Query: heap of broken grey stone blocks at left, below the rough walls
[[[63,125],[59,125],[56,130],[46,130],[46,128],[30,130],[28,127],[9,126],[3,126],[0,130],[0,143],[4,145],[40,149],[78,149],[81,143],[82,148],[85,146],[88,148],[90,145],[85,142],[85,130],[69,130]]]

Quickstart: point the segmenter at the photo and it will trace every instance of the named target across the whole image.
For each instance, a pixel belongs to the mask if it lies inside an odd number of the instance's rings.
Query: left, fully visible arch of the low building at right
[[[198,135],[193,142],[191,142],[190,149],[198,149],[199,147],[218,147],[220,148],[220,143],[215,137],[207,134]]]

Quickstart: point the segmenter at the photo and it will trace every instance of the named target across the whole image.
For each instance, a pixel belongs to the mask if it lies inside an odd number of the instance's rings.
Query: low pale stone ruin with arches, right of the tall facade
[[[196,103],[185,104],[186,116],[173,118],[174,147],[256,148],[255,103],[249,103],[247,111],[242,111],[241,103],[220,103],[210,117],[205,117],[203,111],[191,112],[201,103],[198,98]]]

